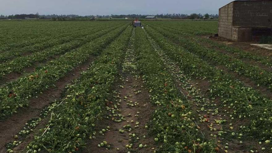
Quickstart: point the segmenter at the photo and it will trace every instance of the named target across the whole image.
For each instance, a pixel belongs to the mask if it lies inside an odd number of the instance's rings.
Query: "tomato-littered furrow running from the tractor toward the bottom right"
[[[215,148],[216,151],[221,152],[220,150],[224,150],[224,152],[228,152],[237,150],[237,148],[233,147],[234,145],[243,146],[243,148],[251,152],[258,152],[260,148],[261,150],[266,150],[264,144],[257,144],[255,141],[256,144],[252,146],[251,144],[254,144],[252,140],[242,139],[243,134],[240,131],[229,130],[234,129],[233,127],[238,127],[239,123],[233,122],[227,113],[222,114],[222,112],[219,112],[217,100],[215,98],[209,99],[206,94],[203,94],[202,91],[205,90],[202,90],[203,88],[200,89],[194,79],[192,81],[191,77],[188,77],[180,70],[178,62],[174,62],[172,58],[168,57],[152,38],[150,40],[152,46],[167,66],[168,71],[174,76],[176,85],[182,88],[181,92],[192,103],[193,110],[197,115],[195,116],[196,122],[203,129],[202,133],[205,134],[206,138],[217,140],[218,147]],[[203,86],[202,83],[199,83],[199,85]],[[229,141],[230,138],[236,139],[237,142]]]

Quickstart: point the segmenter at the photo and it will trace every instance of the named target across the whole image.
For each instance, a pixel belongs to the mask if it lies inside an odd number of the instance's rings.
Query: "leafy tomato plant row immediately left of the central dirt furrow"
[[[76,152],[94,136],[95,124],[103,118],[111,87],[119,76],[130,35],[131,28],[126,28],[79,79],[66,87],[65,98],[50,108],[51,119],[28,144],[28,152]],[[50,129],[44,133],[47,127]]]

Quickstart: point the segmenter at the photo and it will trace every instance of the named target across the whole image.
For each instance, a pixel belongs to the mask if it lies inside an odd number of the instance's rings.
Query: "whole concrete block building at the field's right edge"
[[[219,9],[218,35],[237,42],[272,36],[272,0],[238,0]]]

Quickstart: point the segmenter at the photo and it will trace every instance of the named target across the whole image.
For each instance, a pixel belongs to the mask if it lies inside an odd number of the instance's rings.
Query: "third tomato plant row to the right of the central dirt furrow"
[[[152,26],[153,27],[153,26]],[[199,57],[206,61],[214,62],[217,65],[226,66],[229,70],[235,73],[244,75],[249,79],[254,80],[257,84],[265,85],[270,90],[272,90],[272,73],[260,69],[257,66],[252,66],[247,63],[242,62],[240,59],[218,52],[215,49],[209,49],[195,41],[190,40],[185,35],[178,35],[172,32],[168,32],[159,27],[153,27],[159,30],[164,36],[178,43],[179,45],[188,49],[188,51],[197,54]]]

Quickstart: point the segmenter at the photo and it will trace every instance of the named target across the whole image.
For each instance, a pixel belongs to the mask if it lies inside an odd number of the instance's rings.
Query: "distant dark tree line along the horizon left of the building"
[[[52,20],[65,20],[65,19],[87,19],[87,18],[145,18],[146,16],[155,16],[156,18],[171,18],[171,19],[210,19],[210,18],[218,18],[218,15],[213,14],[196,14],[193,13],[191,15],[188,14],[157,14],[157,15],[141,15],[141,14],[129,14],[129,15],[39,15],[36,14],[16,14],[16,15],[0,15],[0,18],[7,19],[27,19],[27,18],[36,18],[36,19],[52,19]]]

